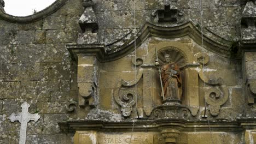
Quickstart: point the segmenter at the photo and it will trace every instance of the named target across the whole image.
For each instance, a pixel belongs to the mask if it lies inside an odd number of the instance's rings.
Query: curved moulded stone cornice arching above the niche
[[[201,31],[191,21],[179,25],[156,25],[155,23],[146,22],[137,33],[136,46],[140,46],[150,36],[158,38],[181,38],[185,35],[189,35],[197,44],[201,44]],[[223,57],[230,57],[231,41],[220,38],[214,34],[212,34],[211,38],[207,37],[207,35],[203,35],[203,41],[204,47],[207,50],[218,53]],[[92,53],[94,53],[97,55],[99,61],[108,62],[124,57],[132,52],[134,50],[135,40],[130,33],[123,39],[115,41],[112,44],[98,44],[101,45],[100,47],[95,47],[95,45],[97,44],[68,44],[66,47],[74,58],[77,57],[78,54],[92,55]]]

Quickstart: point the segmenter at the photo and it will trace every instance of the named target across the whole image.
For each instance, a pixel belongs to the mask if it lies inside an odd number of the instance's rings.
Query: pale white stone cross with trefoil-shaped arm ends
[[[27,133],[27,123],[31,120],[37,122],[37,120],[40,118],[38,113],[36,114],[30,114],[28,112],[28,107],[30,105],[25,102],[21,105],[22,111],[19,115],[15,115],[15,113],[12,113],[9,117],[11,122],[19,121],[21,123],[20,125],[20,144],[26,143],[26,133]]]

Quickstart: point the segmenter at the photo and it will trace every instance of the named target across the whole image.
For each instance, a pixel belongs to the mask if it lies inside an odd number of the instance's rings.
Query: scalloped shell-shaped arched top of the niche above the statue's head
[[[173,62],[177,63],[179,67],[184,67],[185,64],[192,64],[197,62],[193,57],[191,50],[188,45],[179,43],[178,41],[162,41],[149,47],[149,55],[146,58],[147,64],[153,64],[156,58],[155,49],[158,52],[158,58],[160,64],[164,60],[164,54],[168,53],[171,55]]]

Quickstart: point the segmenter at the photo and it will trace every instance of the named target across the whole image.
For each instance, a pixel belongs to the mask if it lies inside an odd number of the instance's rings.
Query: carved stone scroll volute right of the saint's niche
[[[207,85],[211,87],[205,88],[205,100],[209,105],[209,110],[212,116],[218,116],[220,106],[226,103],[229,98],[228,88],[222,87],[222,79],[208,79],[203,73],[203,65],[209,62],[209,56],[206,53],[199,53],[197,61],[200,63],[199,77]]]

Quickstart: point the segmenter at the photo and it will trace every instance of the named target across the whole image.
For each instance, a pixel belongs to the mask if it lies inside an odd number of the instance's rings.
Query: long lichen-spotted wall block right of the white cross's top
[[[53,103],[37,103],[37,111],[45,114],[57,114],[67,112],[67,102],[53,102]]]

